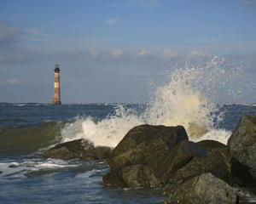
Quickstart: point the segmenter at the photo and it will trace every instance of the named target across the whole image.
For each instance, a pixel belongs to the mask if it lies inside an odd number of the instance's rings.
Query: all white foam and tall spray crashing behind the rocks
[[[241,81],[247,74],[243,65],[227,63],[223,57],[211,56],[186,62],[173,68],[168,82],[156,86],[151,99],[142,109],[117,105],[113,114],[102,121],[79,117],[61,131],[62,142],[89,139],[95,145],[115,147],[125,134],[141,124],[185,127],[189,139],[215,139],[224,144],[230,131],[218,127],[224,112],[216,101],[220,97],[242,97],[242,88],[253,81]]]

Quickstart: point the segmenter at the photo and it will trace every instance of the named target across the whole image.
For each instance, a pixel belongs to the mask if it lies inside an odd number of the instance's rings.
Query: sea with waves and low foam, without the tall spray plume
[[[135,122],[146,122],[141,117],[148,116],[148,109],[152,105],[0,104],[0,203],[161,203],[166,200],[159,195],[159,189],[103,187],[102,176],[109,170],[104,161],[43,157],[49,147],[79,138],[113,147]],[[225,143],[241,116],[256,115],[256,105],[217,105],[211,116],[220,113],[221,120],[213,118],[216,123],[201,139]],[[197,128],[201,132],[201,127]],[[248,201],[256,203],[252,196],[243,195],[241,203]]]

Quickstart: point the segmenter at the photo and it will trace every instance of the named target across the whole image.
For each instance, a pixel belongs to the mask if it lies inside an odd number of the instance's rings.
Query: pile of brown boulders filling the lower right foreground
[[[189,141],[182,126],[133,127],[108,158],[103,185],[161,187],[165,203],[238,203],[256,192],[256,116],[243,116],[228,145]]]

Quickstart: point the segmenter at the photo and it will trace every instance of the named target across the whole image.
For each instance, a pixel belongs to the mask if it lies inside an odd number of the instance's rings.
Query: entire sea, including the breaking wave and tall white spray
[[[0,203],[161,203],[159,189],[103,187],[104,161],[44,159],[43,153],[74,139],[114,148],[141,124],[183,125],[191,141],[227,144],[241,116],[256,115],[256,105],[215,101],[253,93],[254,81],[241,82],[246,74],[241,64],[213,56],[152,82],[147,104],[0,103]],[[256,203],[256,195],[241,194],[240,201]]]

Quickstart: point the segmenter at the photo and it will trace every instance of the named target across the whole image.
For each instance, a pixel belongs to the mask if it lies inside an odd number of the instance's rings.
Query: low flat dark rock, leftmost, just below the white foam
[[[78,139],[67,143],[57,144],[55,147],[44,152],[44,158],[55,159],[83,159],[99,160],[107,159],[111,155],[109,147],[94,147],[88,140]]]

